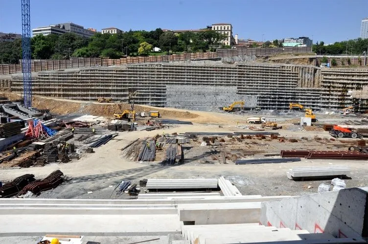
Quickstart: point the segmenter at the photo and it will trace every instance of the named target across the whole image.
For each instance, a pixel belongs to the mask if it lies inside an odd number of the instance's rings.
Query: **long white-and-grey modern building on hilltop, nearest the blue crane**
[[[32,35],[47,36],[50,34],[62,35],[64,33],[75,33],[82,37],[91,37],[94,35],[94,33],[96,33],[95,29],[94,30],[91,29],[93,28],[85,29],[82,25],[68,22],[34,28],[32,29]]]

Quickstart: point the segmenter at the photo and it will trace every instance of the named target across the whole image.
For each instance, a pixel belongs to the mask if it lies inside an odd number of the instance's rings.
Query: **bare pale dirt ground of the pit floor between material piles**
[[[65,110],[60,113],[85,112],[92,115],[111,115],[112,109],[105,111],[106,106],[119,106],[116,104],[99,104],[97,102],[86,103],[83,101],[69,101],[63,99],[48,99],[35,97],[35,107],[48,108],[53,112],[59,111],[59,106]],[[122,107],[129,105],[120,105]],[[67,108],[65,108],[67,107]],[[138,106],[137,106],[138,107]],[[152,107],[140,106],[151,110]],[[115,107],[113,107],[115,108]],[[81,110],[83,109],[83,110]],[[177,109],[158,109],[163,118],[175,118],[193,122],[193,125],[173,125],[165,128],[165,133],[185,132],[234,132],[248,129],[238,128],[245,125],[247,116],[251,114],[235,114],[223,112],[185,111]],[[255,114],[256,115],[256,114]],[[258,116],[258,115],[257,115]],[[263,115],[262,115],[263,116]],[[277,121],[298,120],[302,116],[299,113],[281,113],[264,115]],[[346,119],[357,119],[357,117],[343,117],[341,115],[318,114],[321,121],[338,123]],[[274,132],[274,131],[273,131]],[[316,130],[303,130],[293,124],[284,124],[284,128],[277,130],[281,136],[295,138],[296,143],[279,143],[259,141],[259,145],[253,145],[253,149],[265,151],[267,147],[272,148],[268,152],[279,152],[282,149],[309,149],[309,150],[333,150],[333,144],[339,142],[330,141],[327,132]],[[21,169],[1,169],[0,180],[11,180],[23,174],[34,174],[36,178],[46,177],[52,171],[59,169],[65,175],[72,177],[71,180],[61,186],[41,194],[43,198],[85,198],[85,199],[114,199],[113,189],[121,180],[132,180],[138,183],[142,178],[208,178],[224,176],[238,187],[242,194],[247,195],[303,195],[317,193],[321,182],[330,180],[293,181],[286,177],[286,171],[295,166],[322,166],[322,165],[349,165],[351,169],[350,179],[345,179],[347,187],[362,187],[368,185],[367,161],[346,161],[328,159],[302,159],[301,162],[280,164],[253,164],[235,165],[228,164],[202,164],[195,160],[186,161],[181,165],[162,166],[157,162],[134,162],[122,155],[121,149],[137,138],[145,138],[161,134],[162,130],[121,132],[106,145],[94,149],[93,154],[84,154],[79,160],[74,159],[67,164],[47,164],[44,167],[31,167]],[[307,137],[308,139],[301,139]],[[315,137],[322,138],[321,142],[314,140]],[[247,148],[252,141],[244,140],[241,145]],[[267,144],[269,146],[267,146]],[[341,144],[341,143],[340,143]],[[348,145],[348,144],[346,144]],[[330,147],[330,148],[329,148]],[[265,149],[266,148],[266,149]],[[337,147],[338,148],[338,147]],[[249,158],[258,158],[262,155],[251,155]],[[184,153],[185,157],[185,153]],[[309,186],[309,187],[308,187]],[[87,192],[92,191],[91,194]]]

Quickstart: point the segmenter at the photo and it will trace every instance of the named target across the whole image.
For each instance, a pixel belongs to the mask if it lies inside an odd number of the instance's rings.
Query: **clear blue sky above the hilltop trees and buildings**
[[[30,0],[31,28],[73,22],[101,31],[199,29],[231,23],[257,41],[307,36],[330,44],[360,36],[368,0]],[[0,0],[0,32],[22,32],[21,0]]]

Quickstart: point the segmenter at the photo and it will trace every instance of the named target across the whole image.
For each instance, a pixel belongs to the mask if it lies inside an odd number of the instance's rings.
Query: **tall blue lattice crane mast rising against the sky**
[[[24,107],[32,107],[32,77],[31,77],[31,20],[30,0],[21,0],[22,5],[22,51],[23,51],[23,94]]]

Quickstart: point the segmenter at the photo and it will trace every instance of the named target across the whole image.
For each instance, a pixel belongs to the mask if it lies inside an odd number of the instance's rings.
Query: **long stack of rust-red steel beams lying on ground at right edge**
[[[367,160],[368,154],[357,151],[308,151],[291,150],[281,151],[282,157],[304,157],[304,158],[328,158],[328,159],[347,159],[347,160]]]

